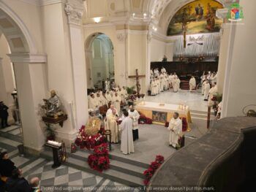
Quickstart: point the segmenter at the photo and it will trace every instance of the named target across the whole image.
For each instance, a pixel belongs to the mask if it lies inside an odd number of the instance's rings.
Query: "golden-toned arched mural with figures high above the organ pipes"
[[[219,32],[222,19],[216,17],[223,6],[214,0],[197,0],[176,12],[167,28],[167,35],[200,34]]]

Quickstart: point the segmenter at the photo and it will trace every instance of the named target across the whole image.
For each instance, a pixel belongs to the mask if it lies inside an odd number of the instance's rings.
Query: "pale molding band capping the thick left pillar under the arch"
[[[42,64],[47,62],[46,54],[11,53],[7,55],[12,63]]]

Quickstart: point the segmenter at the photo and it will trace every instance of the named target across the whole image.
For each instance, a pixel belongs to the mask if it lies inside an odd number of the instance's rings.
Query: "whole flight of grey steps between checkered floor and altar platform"
[[[52,160],[52,152],[50,150],[44,150],[41,153],[41,157],[46,158],[51,161]],[[75,169],[79,169],[84,172],[89,172],[91,174],[97,174],[100,177],[104,177],[108,180],[114,180],[118,183],[122,183],[124,185],[128,185],[131,187],[143,186],[143,177],[140,174],[140,171],[142,171],[144,169],[140,168],[140,169],[138,169],[137,172],[135,172],[134,166],[129,165],[129,166],[123,168],[121,166],[124,166],[124,164],[121,164],[121,162],[116,162],[116,161],[110,160],[110,165],[111,165],[110,169],[103,171],[103,172],[97,172],[97,171],[91,169],[91,167],[87,163],[86,157],[83,157],[83,156],[79,157],[79,155],[75,155],[73,153],[73,154],[68,154],[67,162],[65,162],[64,165],[71,166]],[[135,174],[138,175],[139,177],[136,176]]]

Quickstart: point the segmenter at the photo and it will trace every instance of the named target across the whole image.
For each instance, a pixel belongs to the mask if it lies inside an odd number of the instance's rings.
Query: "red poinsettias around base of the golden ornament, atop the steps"
[[[78,137],[75,139],[75,145],[80,149],[93,150],[94,147],[107,142],[107,138],[102,134],[88,135],[85,131],[86,126],[82,126],[78,132]]]

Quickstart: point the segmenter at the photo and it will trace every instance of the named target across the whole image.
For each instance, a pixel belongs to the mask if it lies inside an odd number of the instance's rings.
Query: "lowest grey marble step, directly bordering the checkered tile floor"
[[[41,157],[51,161],[52,152],[50,150],[44,150],[41,153]],[[112,168],[103,172],[97,172],[89,167],[89,164],[87,163],[87,161],[80,160],[79,158],[74,158],[73,155],[70,155],[69,158],[67,158],[67,162],[65,162],[64,165],[82,170],[84,172],[89,172],[91,174],[96,174],[96,175],[99,175],[100,177],[104,177],[108,180],[114,180],[118,183],[128,185],[130,187],[137,188],[137,187],[143,186],[143,178],[141,177],[136,177],[132,174],[120,172]]]

